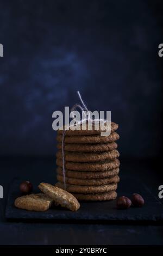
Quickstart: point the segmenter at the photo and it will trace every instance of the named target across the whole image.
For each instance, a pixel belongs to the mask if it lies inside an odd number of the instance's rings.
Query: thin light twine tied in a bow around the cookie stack
[[[82,124],[84,123],[85,121],[87,120],[91,120],[92,122],[95,122],[95,121],[103,121],[105,122],[105,119],[91,119],[90,118],[90,113],[84,103],[84,101],[82,100],[82,96],[80,95],[80,92],[78,91],[77,92],[78,96],[79,96],[79,100],[81,102],[81,105],[80,104],[75,104],[72,109],[71,109],[71,112],[72,111],[76,111],[77,108],[80,108],[80,110],[82,111],[82,113],[84,113],[85,115],[85,118],[81,121],[78,121],[77,125],[79,124]],[[85,111],[88,112],[88,115],[85,114]],[[62,172],[63,172],[63,178],[64,178],[64,188],[66,190],[66,175],[65,175],[65,172],[66,172],[66,168],[65,168],[65,136],[66,136],[66,131],[71,127],[71,126],[74,126],[74,125],[69,125],[68,127],[66,127],[66,129],[63,130],[62,132]]]

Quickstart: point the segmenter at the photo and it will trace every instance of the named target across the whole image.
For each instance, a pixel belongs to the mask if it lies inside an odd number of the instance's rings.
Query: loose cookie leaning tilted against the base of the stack
[[[77,211],[80,208],[78,200],[62,188],[52,186],[48,183],[40,183],[39,189],[54,200],[55,205],[61,205],[71,211]]]

